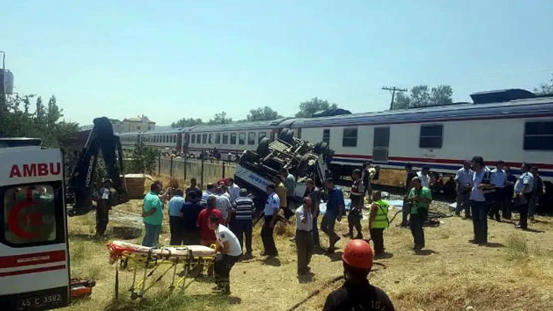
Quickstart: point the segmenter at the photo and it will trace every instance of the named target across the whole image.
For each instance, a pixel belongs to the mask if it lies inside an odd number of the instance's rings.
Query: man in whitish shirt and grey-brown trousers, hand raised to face
[[[304,205],[296,209],[296,246],[298,247],[298,277],[309,273],[313,254],[313,216],[310,197],[304,198]]]

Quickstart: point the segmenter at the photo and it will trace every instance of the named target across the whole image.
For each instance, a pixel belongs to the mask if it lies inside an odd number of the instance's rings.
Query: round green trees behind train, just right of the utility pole
[[[449,85],[438,85],[432,88],[427,85],[418,85],[411,88],[409,96],[404,93],[396,93],[392,110],[447,106],[453,103],[452,96],[453,89]]]

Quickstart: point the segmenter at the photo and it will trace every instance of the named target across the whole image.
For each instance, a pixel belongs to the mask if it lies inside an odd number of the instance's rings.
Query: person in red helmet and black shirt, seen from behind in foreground
[[[373,266],[371,245],[364,240],[349,240],[342,263],[346,282],[328,294],[323,311],[395,310],[388,295],[367,280]]]

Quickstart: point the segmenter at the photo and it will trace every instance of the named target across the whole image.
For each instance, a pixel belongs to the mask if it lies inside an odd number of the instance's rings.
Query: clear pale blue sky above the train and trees
[[[455,101],[531,89],[553,73],[551,0],[0,2],[16,91],[65,117],[158,125],[311,97],[384,110],[382,86],[450,84]]]

